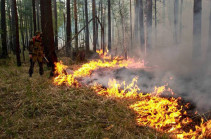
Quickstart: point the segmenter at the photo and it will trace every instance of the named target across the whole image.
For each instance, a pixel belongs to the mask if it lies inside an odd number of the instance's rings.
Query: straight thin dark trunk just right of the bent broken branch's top
[[[108,0],[108,50],[111,52],[111,1]]]

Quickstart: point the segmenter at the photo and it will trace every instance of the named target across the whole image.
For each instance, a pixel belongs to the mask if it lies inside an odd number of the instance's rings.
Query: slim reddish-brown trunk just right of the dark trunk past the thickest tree
[[[78,34],[77,0],[74,0],[75,34]],[[75,49],[78,52],[78,36],[75,37]]]

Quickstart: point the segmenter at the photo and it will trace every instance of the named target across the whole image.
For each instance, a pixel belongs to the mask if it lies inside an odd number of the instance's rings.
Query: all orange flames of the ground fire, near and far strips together
[[[107,58],[106,58],[107,59]],[[130,66],[133,65],[133,66]],[[144,62],[138,62],[139,66],[132,59],[129,60],[93,60],[84,64],[73,73],[67,73],[67,66],[62,62],[56,63],[56,74],[54,84],[80,87],[78,78],[91,76],[100,68],[144,68]],[[141,65],[141,66],[140,66]],[[133,78],[129,85],[126,82],[118,83],[116,79],[110,79],[108,87],[105,88],[99,83],[95,83],[91,88],[98,94],[116,99],[134,99],[135,104],[129,106],[137,114],[137,124],[148,126],[160,132],[169,133],[173,138],[210,138],[211,120],[201,124],[192,124],[193,119],[188,115],[186,108],[188,104],[180,104],[181,98],[162,97],[162,93],[174,94],[167,86],[155,87],[151,93],[142,93],[137,85],[138,77]],[[189,125],[190,126],[187,128]]]

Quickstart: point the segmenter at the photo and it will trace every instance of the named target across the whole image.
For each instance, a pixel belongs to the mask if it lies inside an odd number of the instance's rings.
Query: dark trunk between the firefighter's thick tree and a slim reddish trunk
[[[71,14],[70,14],[70,0],[67,0],[67,27],[66,27],[66,34],[67,34],[67,42],[66,42],[66,56],[71,56]]]

